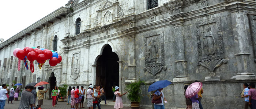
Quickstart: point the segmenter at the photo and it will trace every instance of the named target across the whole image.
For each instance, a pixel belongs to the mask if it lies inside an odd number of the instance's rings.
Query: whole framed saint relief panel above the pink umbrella
[[[221,33],[220,18],[213,18],[196,23],[197,38],[197,65],[210,70],[210,76],[215,76],[214,69],[222,63],[227,63],[224,58],[223,38]]]

